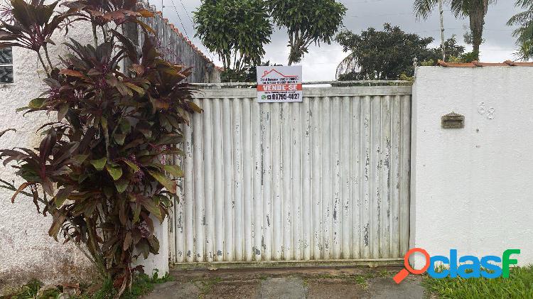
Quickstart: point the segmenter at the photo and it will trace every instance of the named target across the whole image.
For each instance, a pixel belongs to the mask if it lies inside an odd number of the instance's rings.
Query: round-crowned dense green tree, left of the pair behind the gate
[[[226,70],[261,63],[272,26],[263,0],[203,0],[194,13],[196,36]]]

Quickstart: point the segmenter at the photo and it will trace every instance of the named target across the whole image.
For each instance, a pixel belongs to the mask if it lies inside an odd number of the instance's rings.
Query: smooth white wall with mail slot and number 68
[[[532,83],[533,67],[419,67],[411,247],[444,256],[521,249],[519,264],[533,263]],[[465,116],[464,129],[441,129],[452,111]]]

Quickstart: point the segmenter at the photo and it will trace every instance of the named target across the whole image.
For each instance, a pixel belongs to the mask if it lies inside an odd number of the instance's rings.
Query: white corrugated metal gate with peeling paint
[[[171,262],[397,261],[409,247],[411,87],[302,103],[203,89],[186,127]]]

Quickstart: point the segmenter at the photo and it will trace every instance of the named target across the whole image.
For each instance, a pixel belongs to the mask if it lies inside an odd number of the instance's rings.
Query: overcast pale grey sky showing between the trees
[[[162,2],[161,2],[162,1]],[[432,36],[435,38],[435,46],[440,43],[438,13],[433,13],[427,21],[417,21],[412,13],[412,0],[338,0],[343,3],[348,11],[344,18],[344,27],[354,33],[360,33],[369,27],[382,28],[383,23],[397,25],[408,33],[417,33],[419,36]],[[185,31],[189,38],[198,45],[206,54],[208,50],[198,38],[194,38],[192,23],[193,11],[200,6],[200,0],[151,0],[163,11],[163,16],[168,18],[182,32]],[[512,37],[512,28],[505,25],[507,20],[519,10],[514,7],[515,0],[499,0],[497,4],[490,6],[485,18],[485,43],[481,45],[481,60],[483,62],[502,62],[514,58],[515,38]],[[161,6],[164,5],[163,9]],[[448,9],[448,8],[445,8]],[[181,18],[181,20],[180,20]],[[456,20],[449,9],[444,14],[444,28],[446,38],[453,34],[460,43],[463,42],[465,26],[468,19]],[[183,29],[184,28],[184,29]],[[277,29],[271,37],[271,43],[266,45],[264,61],[286,64],[289,50],[284,28]],[[467,47],[470,51],[471,47]],[[311,46],[309,53],[303,58],[303,80],[334,80],[335,70],[338,63],[345,58],[340,45],[321,45],[320,48]],[[217,65],[222,65],[215,54],[208,55],[214,58]]]

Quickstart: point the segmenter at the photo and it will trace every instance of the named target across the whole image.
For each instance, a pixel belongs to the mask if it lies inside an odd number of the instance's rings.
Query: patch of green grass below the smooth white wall
[[[533,298],[533,266],[511,269],[509,278],[426,277],[422,285],[438,298]]]

